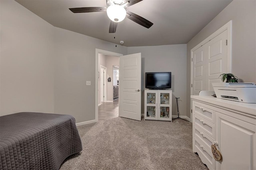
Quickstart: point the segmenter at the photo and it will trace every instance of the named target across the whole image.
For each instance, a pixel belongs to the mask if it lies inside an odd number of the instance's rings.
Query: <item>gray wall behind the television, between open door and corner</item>
[[[175,97],[180,97],[180,115],[186,115],[186,44],[128,47],[128,54],[141,53],[142,87],[145,89],[145,72],[172,72],[172,115],[177,115]],[[142,92],[142,113],[144,113],[144,92]]]

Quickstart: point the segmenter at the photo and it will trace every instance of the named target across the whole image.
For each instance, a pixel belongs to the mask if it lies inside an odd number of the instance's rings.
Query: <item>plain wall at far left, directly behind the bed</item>
[[[54,112],[54,27],[0,0],[0,115]]]

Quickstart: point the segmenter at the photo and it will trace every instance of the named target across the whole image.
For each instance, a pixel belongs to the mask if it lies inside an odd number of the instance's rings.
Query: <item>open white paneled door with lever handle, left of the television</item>
[[[120,56],[119,116],[141,121],[141,53]]]

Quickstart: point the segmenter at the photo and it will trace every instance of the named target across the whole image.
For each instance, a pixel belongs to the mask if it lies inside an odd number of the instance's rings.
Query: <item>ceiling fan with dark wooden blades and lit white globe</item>
[[[127,16],[128,19],[144,26],[150,28],[153,23],[146,20],[145,18],[134,14],[133,12],[126,11],[128,6],[132,6],[142,0],[106,0],[106,7],[82,7],[82,8],[69,8],[74,13],[83,12],[107,12],[108,18],[110,18],[109,33],[115,33],[117,28],[117,23],[124,20]]]

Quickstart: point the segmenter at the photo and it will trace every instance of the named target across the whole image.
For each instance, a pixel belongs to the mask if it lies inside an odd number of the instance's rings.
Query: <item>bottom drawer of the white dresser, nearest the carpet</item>
[[[210,170],[214,170],[215,159],[213,158],[212,153],[209,152],[208,149],[206,149],[196,138],[193,138],[193,144],[193,151],[198,153],[202,162],[206,164]]]

